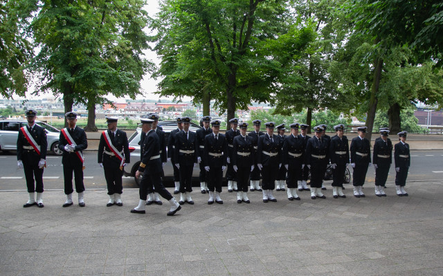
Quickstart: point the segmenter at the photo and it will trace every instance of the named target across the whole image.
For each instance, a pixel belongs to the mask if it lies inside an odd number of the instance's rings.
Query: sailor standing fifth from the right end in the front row
[[[306,145],[306,165],[311,169],[311,199],[326,199],[321,186],[329,160],[329,140],[322,137],[323,127],[316,126],[314,131],[316,136],[309,138]]]

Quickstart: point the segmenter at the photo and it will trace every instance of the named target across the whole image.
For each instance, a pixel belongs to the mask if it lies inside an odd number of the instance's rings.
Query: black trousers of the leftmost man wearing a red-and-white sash
[[[22,159],[28,192],[43,192],[43,169],[39,168],[39,154],[35,151],[25,152]]]

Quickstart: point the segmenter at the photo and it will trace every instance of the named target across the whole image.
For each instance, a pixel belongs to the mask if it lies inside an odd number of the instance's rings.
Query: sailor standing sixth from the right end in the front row
[[[300,124],[294,122],[289,125],[291,127],[291,135],[287,136],[283,142],[282,163],[287,169],[286,183],[288,185],[288,199],[300,200],[297,194],[297,181],[302,176],[302,165],[305,158],[305,142],[298,135],[298,127]]]

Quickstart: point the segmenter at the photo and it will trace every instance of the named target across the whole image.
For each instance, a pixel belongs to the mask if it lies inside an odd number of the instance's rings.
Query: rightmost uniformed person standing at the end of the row
[[[400,142],[395,144],[395,189],[397,196],[408,196],[404,186],[406,185],[406,178],[408,177],[408,170],[410,167],[410,152],[409,145],[406,143],[406,131],[401,131],[397,134]]]

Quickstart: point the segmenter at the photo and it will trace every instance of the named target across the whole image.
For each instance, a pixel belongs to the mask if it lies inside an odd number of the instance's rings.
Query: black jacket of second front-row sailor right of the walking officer
[[[214,134],[207,135],[205,137],[205,154],[204,165],[209,167],[222,167],[226,166],[226,160],[228,158],[228,142],[226,142],[226,136],[224,134],[218,134],[219,138],[215,140]],[[223,154],[222,156],[212,156],[212,154]]]

